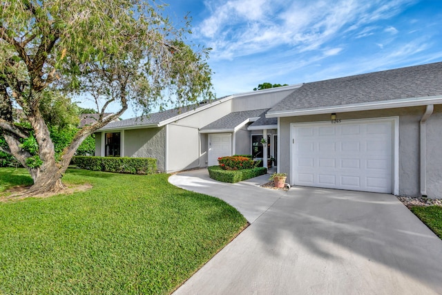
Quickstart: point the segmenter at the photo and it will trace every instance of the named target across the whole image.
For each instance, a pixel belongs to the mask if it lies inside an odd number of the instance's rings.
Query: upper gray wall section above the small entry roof
[[[294,89],[276,91],[271,93],[259,93],[244,97],[235,97],[232,102],[232,112],[259,110],[260,108],[272,108],[282,99],[292,93]]]

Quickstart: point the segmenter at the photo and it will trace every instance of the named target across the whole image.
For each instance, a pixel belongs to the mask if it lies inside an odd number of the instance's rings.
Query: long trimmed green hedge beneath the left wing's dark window
[[[157,171],[157,159],[126,157],[92,157],[75,155],[72,163],[81,169],[129,174],[153,174]]]

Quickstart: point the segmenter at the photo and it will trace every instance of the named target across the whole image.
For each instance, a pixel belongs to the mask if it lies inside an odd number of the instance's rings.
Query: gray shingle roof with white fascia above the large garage
[[[442,62],[306,83],[267,117],[441,104],[441,82]]]

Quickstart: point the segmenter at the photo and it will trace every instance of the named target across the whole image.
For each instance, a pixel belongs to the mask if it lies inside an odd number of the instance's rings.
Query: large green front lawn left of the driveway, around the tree
[[[0,203],[0,294],[168,294],[246,225],[217,198],[169,175],[70,169],[72,195]],[[30,184],[0,169],[0,196]]]

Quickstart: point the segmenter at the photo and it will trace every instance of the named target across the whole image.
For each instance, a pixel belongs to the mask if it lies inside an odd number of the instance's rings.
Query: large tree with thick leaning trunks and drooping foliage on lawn
[[[1,1],[0,136],[8,146],[0,151],[28,169],[34,184],[26,194],[63,190],[81,142],[129,103],[148,113],[211,97],[208,50],[184,43],[189,33],[189,22],[174,28],[153,1]],[[51,91],[92,97],[99,113],[59,155],[42,112]],[[118,111],[106,115],[109,106]],[[15,120],[15,107],[28,124]]]

